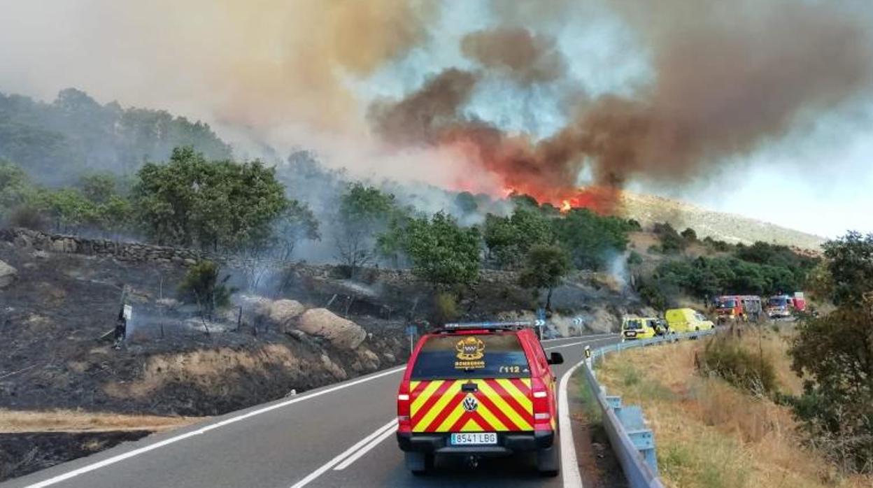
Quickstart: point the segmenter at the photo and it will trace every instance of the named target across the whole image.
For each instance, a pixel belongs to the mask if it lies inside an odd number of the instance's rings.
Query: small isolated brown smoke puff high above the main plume
[[[554,81],[567,71],[554,39],[524,27],[498,27],[464,36],[461,52],[485,68],[504,72],[524,84]]]

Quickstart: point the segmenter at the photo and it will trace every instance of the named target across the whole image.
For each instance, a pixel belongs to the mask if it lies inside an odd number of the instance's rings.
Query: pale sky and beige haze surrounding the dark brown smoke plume
[[[567,61],[567,75],[551,84],[486,77],[477,87],[465,113],[510,132],[546,137],[567,123],[567,93],[631,95],[656,78],[644,36],[608,6],[617,0],[572,8],[548,0],[563,9],[560,22],[536,18],[536,2],[516,3],[519,11],[499,19],[486,0],[415,11],[406,3],[0,0],[0,91],[52,100],[75,86],[100,102],[209,121],[237,147],[240,134],[258,134],[280,151],[312,145],[335,165],[450,185],[444,174],[457,168],[434,163],[444,155],[379,155],[361,134],[370,101],[401,97],[450,66],[470,68],[458,48],[465,34],[524,17]],[[871,18],[857,18],[864,31],[873,31]],[[384,29],[386,22],[404,29]],[[337,37],[369,24],[375,29],[361,38]],[[634,179],[629,189],[825,237],[873,232],[871,115],[865,96],[840,100],[691,180]],[[487,175],[481,180],[491,184]]]

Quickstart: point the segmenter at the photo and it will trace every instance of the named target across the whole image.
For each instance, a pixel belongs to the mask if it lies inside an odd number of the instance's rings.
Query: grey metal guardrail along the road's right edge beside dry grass
[[[661,478],[658,478],[655,436],[643,418],[643,409],[636,405],[622,405],[621,396],[607,395],[606,388],[597,381],[593,364],[609,353],[683,339],[697,339],[713,333],[715,329],[652,339],[628,340],[611,346],[598,347],[592,351],[591,360],[586,362],[585,368],[582,368],[588,386],[594,392],[597,405],[601,409],[603,429],[606,430],[609,443],[615,451],[615,456],[618,457],[619,464],[622,464],[624,476],[632,488],[663,488]]]

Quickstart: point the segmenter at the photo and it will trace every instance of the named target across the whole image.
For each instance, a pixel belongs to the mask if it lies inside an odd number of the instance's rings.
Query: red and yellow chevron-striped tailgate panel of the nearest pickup
[[[478,386],[475,393],[462,391],[464,383]],[[533,430],[531,380],[409,381],[409,415],[413,432],[499,432]],[[476,409],[464,409],[472,395]]]

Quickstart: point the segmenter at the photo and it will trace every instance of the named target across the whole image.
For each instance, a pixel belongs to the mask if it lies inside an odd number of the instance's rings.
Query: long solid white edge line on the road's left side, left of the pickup
[[[165,445],[169,445],[171,443],[177,443],[177,442],[182,441],[183,439],[187,439],[189,437],[199,436],[200,434],[203,434],[205,432],[209,432],[210,430],[215,430],[215,429],[218,429],[219,427],[229,425],[230,423],[237,423],[241,420],[244,420],[244,419],[247,419],[247,418],[250,418],[253,416],[259,416],[261,414],[265,414],[266,412],[270,412],[270,411],[275,410],[275,409],[281,409],[283,407],[287,407],[288,405],[292,405],[293,403],[303,402],[305,400],[309,400],[309,399],[315,398],[317,396],[327,395],[328,393],[333,393],[334,391],[340,390],[342,388],[348,388],[348,387],[351,387],[351,386],[354,386],[357,384],[361,384],[361,383],[366,382],[366,381],[375,380],[376,378],[381,378],[382,376],[392,375],[394,373],[398,373],[398,372],[404,370],[405,368],[406,368],[406,366],[399,366],[397,368],[391,368],[391,369],[388,369],[387,371],[382,371],[382,373],[379,373],[376,375],[367,376],[365,378],[359,378],[357,380],[349,381],[347,383],[342,383],[342,384],[337,385],[335,387],[323,389],[321,391],[316,391],[316,392],[308,394],[308,395],[301,395],[301,396],[293,398],[292,400],[287,400],[285,402],[279,402],[279,403],[276,403],[274,405],[270,405],[269,407],[265,407],[263,409],[252,410],[251,412],[245,413],[245,414],[240,415],[240,416],[230,417],[230,418],[224,419],[221,422],[211,423],[210,425],[207,425],[207,426],[202,427],[200,429],[192,430],[190,432],[186,432],[186,433],[181,434],[179,436],[174,436],[174,437],[170,437],[168,439],[164,439],[158,443],[148,444],[147,446],[143,446],[140,449],[129,450],[123,454],[119,454],[118,456],[109,457],[107,459],[104,459],[104,460],[97,462],[97,463],[94,463],[94,464],[88,464],[86,466],[79,468],[78,470],[68,471],[68,472],[65,472],[64,474],[58,475],[54,478],[49,478],[49,479],[46,479],[45,481],[40,481],[39,483],[35,483],[33,485],[28,485],[26,488],[42,488],[43,486],[55,485],[57,483],[60,483],[61,481],[65,481],[67,479],[79,476],[80,474],[85,474],[86,472],[99,470],[100,468],[106,467],[110,464],[115,464],[115,463],[118,463],[120,461],[124,461],[125,459],[129,459],[130,457],[139,456],[139,455],[144,454],[150,450],[155,450],[155,449],[161,448]],[[396,422],[396,421],[392,421],[392,422]]]

